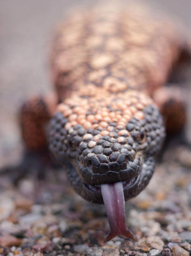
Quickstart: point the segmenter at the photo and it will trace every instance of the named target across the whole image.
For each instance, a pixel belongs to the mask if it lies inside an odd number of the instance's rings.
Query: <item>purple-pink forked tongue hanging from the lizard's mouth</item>
[[[107,218],[111,229],[107,234],[104,243],[117,235],[129,237],[136,242],[135,236],[126,226],[125,200],[122,182],[102,184],[101,194],[104,199]]]

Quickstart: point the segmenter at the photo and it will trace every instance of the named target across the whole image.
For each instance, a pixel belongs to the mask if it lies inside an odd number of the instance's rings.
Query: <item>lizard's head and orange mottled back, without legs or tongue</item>
[[[60,104],[50,149],[69,162],[78,194],[103,203],[100,185],[123,182],[125,200],[149,183],[165,129],[152,100],[180,54],[177,31],[140,10],[95,9],[60,26],[51,55]]]

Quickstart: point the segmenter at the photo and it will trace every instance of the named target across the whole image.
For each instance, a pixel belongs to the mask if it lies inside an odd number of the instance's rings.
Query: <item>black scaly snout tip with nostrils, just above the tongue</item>
[[[120,152],[121,151],[121,152]],[[140,173],[141,160],[139,155],[121,148],[109,156],[104,154],[87,156],[87,162],[81,165],[83,182],[92,185],[129,181]],[[124,153],[125,152],[125,153]],[[86,159],[86,156],[84,157]]]

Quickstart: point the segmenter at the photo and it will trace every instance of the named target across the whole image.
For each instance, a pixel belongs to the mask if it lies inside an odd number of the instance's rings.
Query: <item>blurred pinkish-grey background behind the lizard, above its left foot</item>
[[[169,16],[177,16],[189,31],[190,0],[143,2],[156,5],[156,9],[164,10]],[[48,56],[56,24],[73,7],[90,7],[95,3],[87,0],[0,0],[0,166],[19,159],[17,112],[22,102],[33,94],[44,94],[52,89]]]

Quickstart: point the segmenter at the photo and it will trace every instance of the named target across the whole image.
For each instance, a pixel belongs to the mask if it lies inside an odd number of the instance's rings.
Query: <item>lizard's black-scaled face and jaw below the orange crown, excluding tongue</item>
[[[123,182],[125,200],[138,195],[152,177],[155,155],[165,132],[157,107],[144,108],[144,119],[132,118],[125,129],[115,123],[109,135],[77,124],[57,112],[50,127],[50,148],[61,162],[69,162],[68,178],[82,197],[103,203],[100,185]],[[103,133],[102,133],[103,134]]]

